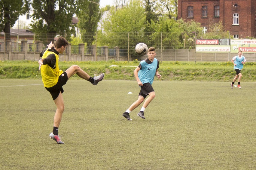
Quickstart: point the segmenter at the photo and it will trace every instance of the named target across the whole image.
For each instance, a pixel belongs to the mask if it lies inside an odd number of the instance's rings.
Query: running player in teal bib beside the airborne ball
[[[149,97],[145,100],[140,112],[137,114],[142,119],[145,119],[144,111],[148,104],[154,99],[155,92],[152,87],[154,77],[157,76],[157,78],[160,78],[161,75],[158,73],[159,68],[159,61],[155,58],[156,51],[154,47],[148,48],[148,58],[141,61],[139,66],[134,70],[134,76],[136,78],[136,81],[138,82],[138,85],[140,86],[140,92],[139,92],[139,98],[137,101],[135,101],[129,109],[127,109],[123,113],[123,117],[125,117],[127,120],[130,119],[130,113],[133,111],[136,107],[138,107],[144,99],[149,95]]]

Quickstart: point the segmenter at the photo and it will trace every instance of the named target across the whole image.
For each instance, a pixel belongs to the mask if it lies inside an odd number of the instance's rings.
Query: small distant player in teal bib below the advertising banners
[[[243,68],[243,64],[245,64],[245,57],[242,56],[242,51],[238,51],[238,56],[235,56],[232,58],[232,63],[234,65],[234,70],[236,70],[236,76],[233,80],[233,82],[230,84],[231,89],[233,89],[233,85],[236,82],[236,79],[238,78],[238,88],[241,89],[242,87],[240,86],[240,81],[242,78],[242,73],[241,70]]]

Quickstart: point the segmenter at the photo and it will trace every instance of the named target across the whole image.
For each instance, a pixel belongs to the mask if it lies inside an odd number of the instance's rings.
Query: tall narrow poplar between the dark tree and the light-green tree
[[[78,28],[80,28],[82,40],[88,45],[91,45],[94,40],[93,33],[97,31],[98,22],[103,13],[99,10],[100,6],[98,4],[99,0],[96,0],[95,3],[80,0],[78,3]]]

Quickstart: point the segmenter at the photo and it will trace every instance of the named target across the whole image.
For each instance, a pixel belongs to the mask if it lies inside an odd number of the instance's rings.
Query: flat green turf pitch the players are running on
[[[127,121],[136,81],[69,80],[59,145],[42,81],[1,79],[0,169],[256,169],[256,83],[241,86],[155,81],[146,119],[141,105]]]

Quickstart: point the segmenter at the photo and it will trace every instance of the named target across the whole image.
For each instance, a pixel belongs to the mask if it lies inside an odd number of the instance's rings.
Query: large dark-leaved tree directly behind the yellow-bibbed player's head
[[[74,33],[72,17],[76,6],[77,0],[33,0],[32,31],[47,33],[47,39],[44,40],[46,42],[53,41],[58,33],[63,37],[65,32]],[[45,37],[45,34],[38,35]],[[69,40],[70,36],[66,38]]]

